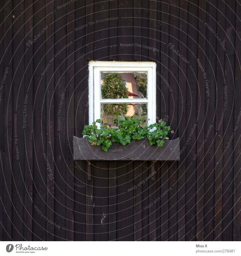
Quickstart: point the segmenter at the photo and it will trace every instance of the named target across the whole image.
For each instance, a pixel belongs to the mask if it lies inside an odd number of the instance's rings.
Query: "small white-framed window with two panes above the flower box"
[[[90,61],[89,124],[102,119],[114,128],[115,117],[133,115],[156,122],[155,62]]]

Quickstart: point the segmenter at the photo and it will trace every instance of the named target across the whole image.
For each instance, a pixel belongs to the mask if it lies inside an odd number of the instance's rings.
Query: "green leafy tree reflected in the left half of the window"
[[[103,77],[101,85],[102,99],[127,99],[129,97],[128,88],[123,82],[120,73],[108,73]],[[102,104],[102,114],[105,115],[125,115],[128,104]]]

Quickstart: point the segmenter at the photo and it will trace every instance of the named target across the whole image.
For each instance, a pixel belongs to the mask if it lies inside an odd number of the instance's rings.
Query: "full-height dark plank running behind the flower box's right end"
[[[170,43],[172,43],[177,50],[179,50],[179,1],[172,1],[169,5],[169,40]],[[167,46],[166,46],[167,47]],[[170,88],[167,87],[169,91],[169,100],[168,100],[168,120],[167,118],[163,117],[165,120],[167,120],[167,125],[171,126],[171,129],[174,130],[174,134],[169,134],[168,137],[170,139],[177,138],[178,137],[178,131],[177,127],[179,125],[178,120],[178,101],[179,101],[179,85],[178,85],[178,79],[179,79],[179,56],[175,54],[173,51],[169,52],[169,78],[168,82],[170,85]],[[169,240],[171,241],[177,241],[177,232],[178,232],[178,165],[177,163],[169,163],[169,185],[167,189],[170,189],[168,191],[169,196]]]

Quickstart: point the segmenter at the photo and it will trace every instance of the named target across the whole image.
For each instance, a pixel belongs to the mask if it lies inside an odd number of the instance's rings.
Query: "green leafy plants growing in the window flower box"
[[[111,142],[121,143],[126,145],[131,140],[140,140],[148,138],[149,144],[157,143],[158,147],[164,145],[164,140],[168,140],[168,133],[173,133],[170,126],[166,126],[166,122],[158,120],[157,123],[147,126],[145,117],[116,117],[114,120],[117,128],[107,128],[107,125],[102,125],[98,129],[96,123],[102,124],[101,119],[97,119],[92,125],[86,125],[82,134],[93,146],[102,147],[102,150],[108,151],[112,145]]]

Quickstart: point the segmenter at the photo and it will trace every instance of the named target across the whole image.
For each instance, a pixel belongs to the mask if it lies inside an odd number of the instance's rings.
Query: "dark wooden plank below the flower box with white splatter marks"
[[[94,241],[109,240],[109,163],[92,161],[94,173]],[[93,176],[92,176],[93,178]]]

